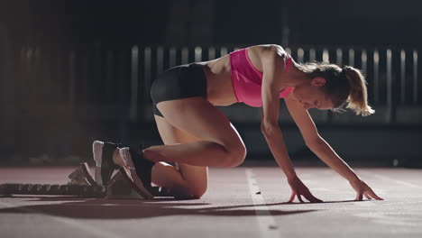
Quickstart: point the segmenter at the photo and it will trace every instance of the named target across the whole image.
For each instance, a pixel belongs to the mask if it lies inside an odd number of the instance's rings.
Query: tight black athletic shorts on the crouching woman
[[[151,85],[152,111],[164,117],[157,104],[192,96],[206,98],[206,75],[203,65],[190,63],[164,71]]]

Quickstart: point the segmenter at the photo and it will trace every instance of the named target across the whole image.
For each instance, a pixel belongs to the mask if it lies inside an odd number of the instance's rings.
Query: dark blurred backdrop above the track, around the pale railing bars
[[[156,64],[160,50],[164,49],[163,69],[167,69],[170,47],[178,50],[179,62],[185,47],[188,61],[193,61],[197,46],[203,48],[205,60],[208,47],[220,54],[221,47],[230,52],[235,47],[276,43],[296,50],[303,47],[306,57],[308,50],[316,49],[317,59],[323,49],[334,55],[343,49],[344,62],[350,59],[349,49],[355,49],[358,68],[362,51],[367,50],[370,103],[378,113],[364,119],[329,114],[329,120],[320,112],[310,113],[319,133],[344,160],[384,165],[410,160],[414,165],[420,160],[417,143],[422,140],[420,59],[419,99],[412,101],[413,52],[422,48],[421,6],[416,0],[0,0],[0,163],[75,164],[90,160],[90,143],[95,139],[161,143],[147,107],[149,80],[160,73]],[[135,120],[129,116],[133,46],[139,49]],[[390,105],[385,93],[388,49],[393,54],[394,104]],[[375,50],[380,50],[379,104],[372,98]],[[401,103],[400,50],[407,53],[406,100]],[[296,59],[295,52],[292,55]],[[271,159],[259,119],[248,119],[258,111],[242,106],[222,110],[241,133],[248,157]],[[233,112],[244,115],[242,120],[231,117]],[[391,114],[398,119],[385,120]],[[291,157],[313,158],[296,125],[283,120]]]

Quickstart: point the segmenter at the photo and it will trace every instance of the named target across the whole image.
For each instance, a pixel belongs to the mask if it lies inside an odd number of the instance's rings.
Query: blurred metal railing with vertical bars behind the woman
[[[119,49],[96,46],[56,51],[24,46],[11,52],[9,59],[14,76],[10,78],[14,80],[7,83],[13,91],[13,102],[24,108],[27,105],[34,105],[33,110],[41,109],[38,106],[51,110],[66,108],[79,119],[116,120],[118,114],[108,110],[124,106],[131,121],[150,121],[151,82],[163,70],[193,61],[216,59],[241,47],[246,46],[128,46]],[[416,49],[289,47],[286,50],[298,62],[324,61],[362,69],[368,81],[370,104],[379,109],[362,123],[421,122],[417,117],[422,86],[418,82],[420,64]],[[90,108],[92,106],[94,108]],[[92,113],[93,110],[97,110],[96,113]],[[337,117],[328,111],[321,114],[317,120],[322,123],[351,123],[350,120],[355,123],[350,116]],[[239,122],[256,122],[258,118],[232,116]]]

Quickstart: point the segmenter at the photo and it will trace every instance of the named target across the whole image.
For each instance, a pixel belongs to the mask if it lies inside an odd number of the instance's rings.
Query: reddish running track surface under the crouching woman
[[[0,183],[65,184],[75,168],[0,168]],[[353,168],[384,201],[353,201],[326,167],[298,167],[322,204],[287,203],[276,166],[210,169],[204,197],[0,197],[2,237],[422,237],[422,169]],[[307,201],[304,198],[305,201]]]

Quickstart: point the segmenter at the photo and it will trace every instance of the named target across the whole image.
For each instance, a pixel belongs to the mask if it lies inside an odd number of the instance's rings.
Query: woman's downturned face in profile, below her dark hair
[[[325,78],[312,78],[312,80],[309,80],[308,84],[295,87],[293,96],[305,109],[331,109],[333,108],[333,104],[330,98],[326,96],[321,89],[325,84]]]

